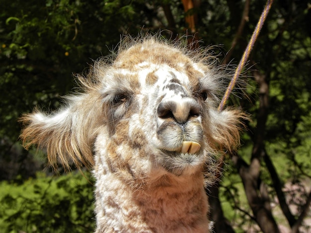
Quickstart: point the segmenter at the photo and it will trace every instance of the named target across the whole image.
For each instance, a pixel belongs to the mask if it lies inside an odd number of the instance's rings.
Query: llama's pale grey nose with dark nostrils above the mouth
[[[179,101],[162,101],[157,107],[157,116],[160,118],[173,118],[176,122],[183,124],[190,117],[200,115],[199,104],[190,98],[184,98]]]

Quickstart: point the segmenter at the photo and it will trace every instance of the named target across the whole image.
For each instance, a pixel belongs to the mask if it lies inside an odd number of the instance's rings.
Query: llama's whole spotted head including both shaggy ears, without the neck
[[[156,37],[120,48],[79,77],[83,93],[59,112],[21,118],[26,147],[47,148],[52,165],[95,164],[129,182],[203,173],[213,154],[236,147],[243,114],[217,111],[226,74],[211,56]]]

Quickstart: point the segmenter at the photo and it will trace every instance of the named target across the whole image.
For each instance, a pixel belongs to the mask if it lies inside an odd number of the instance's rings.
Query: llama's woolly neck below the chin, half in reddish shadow
[[[208,232],[202,174],[162,175],[139,189],[115,174],[100,176],[105,177],[96,177],[97,233]]]

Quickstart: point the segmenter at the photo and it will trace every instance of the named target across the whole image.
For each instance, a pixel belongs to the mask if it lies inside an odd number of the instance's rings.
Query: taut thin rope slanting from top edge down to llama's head
[[[224,97],[223,97],[223,99],[222,99],[222,101],[221,101],[221,103],[220,103],[220,105],[218,107],[218,111],[222,111],[223,110],[223,108],[224,108],[224,106],[225,106],[225,104],[226,104],[226,102],[227,102],[227,100],[228,100],[228,98],[230,96],[230,93],[233,90],[233,87],[234,87],[234,85],[236,83],[236,80],[237,80],[238,76],[240,75],[243,66],[245,65],[245,62],[246,62],[246,60],[247,60],[247,58],[248,58],[248,56],[250,54],[250,51],[252,50],[252,48],[254,46],[254,43],[255,43],[258,35],[259,35],[259,32],[260,32],[260,30],[262,28],[262,25],[263,25],[267,15],[268,15],[268,12],[269,12],[269,10],[271,8],[272,2],[273,2],[273,0],[267,0],[266,6],[265,6],[265,8],[263,9],[263,11],[261,13],[261,16],[260,16],[259,21],[258,21],[258,23],[256,25],[256,28],[255,28],[255,30],[254,30],[251,38],[250,38],[250,41],[248,42],[248,45],[247,45],[247,47],[246,47],[246,49],[244,51],[243,57],[241,58],[238,66],[237,66],[237,68],[235,70],[235,73],[233,75],[233,78],[231,79],[231,81],[230,81],[230,83],[228,85],[228,88],[227,88],[227,90],[225,92],[225,95],[224,95]]]

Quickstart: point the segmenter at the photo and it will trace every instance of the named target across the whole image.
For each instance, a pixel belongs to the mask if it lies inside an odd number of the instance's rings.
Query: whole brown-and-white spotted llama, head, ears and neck
[[[244,114],[217,111],[226,72],[198,49],[160,36],[127,38],[95,61],[82,91],[53,114],[24,115],[25,148],[92,168],[96,233],[208,233],[215,155],[239,144]]]

